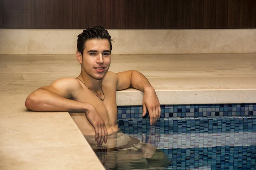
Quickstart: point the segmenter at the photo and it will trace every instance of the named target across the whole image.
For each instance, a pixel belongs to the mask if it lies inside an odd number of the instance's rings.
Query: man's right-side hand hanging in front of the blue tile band
[[[157,122],[161,116],[160,102],[154,88],[146,88],[143,96],[143,116],[146,115],[147,109],[150,117],[150,125]]]

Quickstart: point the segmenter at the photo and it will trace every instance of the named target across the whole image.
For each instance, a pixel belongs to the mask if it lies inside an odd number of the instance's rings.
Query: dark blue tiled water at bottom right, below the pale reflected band
[[[172,162],[168,170],[255,170],[255,151],[255,145],[163,149]]]

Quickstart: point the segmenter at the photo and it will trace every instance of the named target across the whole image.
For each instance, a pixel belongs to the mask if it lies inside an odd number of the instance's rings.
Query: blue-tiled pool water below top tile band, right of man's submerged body
[[[167,170],[255,170],[256,116],[119,119],[123,133],[168,156]]]

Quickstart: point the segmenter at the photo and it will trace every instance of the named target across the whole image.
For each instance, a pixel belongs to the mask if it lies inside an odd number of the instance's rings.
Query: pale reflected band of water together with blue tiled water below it
[[[138,134],[129,135],[140,139]],[[171,164],[166,170],[254,170],[256,166],[256,133],[155,135],[143,133],[141,139],[157,146],[168,156]]]

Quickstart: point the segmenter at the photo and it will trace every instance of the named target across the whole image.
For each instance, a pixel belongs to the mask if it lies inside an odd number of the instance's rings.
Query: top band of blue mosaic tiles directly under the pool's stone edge
[[[118,119],[142,118],[142,106],[118,106]],[[161,117],[253,116],[256,103],[209,105],[161,105]],[[145,117],[148,117],[146,114]]]

